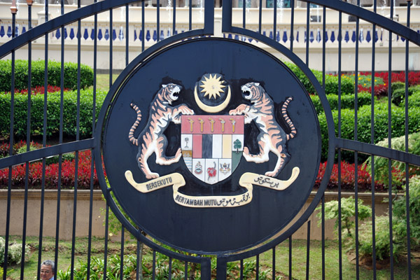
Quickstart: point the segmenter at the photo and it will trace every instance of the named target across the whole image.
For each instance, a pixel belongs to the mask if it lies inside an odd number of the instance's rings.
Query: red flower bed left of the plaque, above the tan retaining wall
[[[90,188],[91,177],[91,152],[80,151],[78,158],[78,188]],[[42,182],[42,162],[29,163],[29,187],[39,188]],[[0,170],[0,186],[8,186],[8,169]],[[64,160],[62,162],[62,188],[73,188],[75,183],[75,160]],[[12,186],[22,188],[25,187],[26,165],[18,165],[12,169]],[[99,181],[97,178],[96,170],[93,175],[94,188],[99,188]],[[45,188],[55,189],[58,188],[58,163],[53,163],[45,167]]]

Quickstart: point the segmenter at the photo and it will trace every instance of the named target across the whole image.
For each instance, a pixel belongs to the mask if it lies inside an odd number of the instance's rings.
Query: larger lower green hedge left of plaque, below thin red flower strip
[[[96,118],[106,97],[105,91],[97,91]],[[60,92],[48,94],[47,102],[47,136],[59,132]],[[44,95],[31,96],[31,134],[43,134]],[[92,90],[80,91],[80,138],[92,135]],[[25,137],[27,132],[27,94],[15,94],[16,137]],[[77,92],[64,92],[63,133],[66,136],[76,135]],[[0,134],[4,137],[10,132],[10,94],[0,94]]]

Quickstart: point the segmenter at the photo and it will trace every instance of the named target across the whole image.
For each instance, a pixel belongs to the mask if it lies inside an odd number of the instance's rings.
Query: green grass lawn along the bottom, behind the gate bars
[[[11,237],[11,241],[20,242],[20,237]],[[41,260],[55,258],[55,239],[50,237],[44,237],[43,250],[41,251]],[[24,279],[36,279],[36,273],[38,269],[38,237],[27,237],[27,244],[31,247],[31,255],[29,255],[28,261],[25,263],[25,276]],[[293,240],[292,247],[292,269],[293,279],[306,279],[306,240]],[[71,241],[59,241],[59,253],[57,268],[60,270],[66,270],[71,266]],[[111,258],[114,254],[120,254],[120,242],[109,241],[108,244],[108,258]],[[136,253],[137,244],[135,242],[127,242],[125,244],[124,253],[125,256],[133,255]],[[75,267],[80,267],[80,262],[87,262],[87,251],[88,251],[88,240],[87,238],[77,238],[74,248],[74,264]],[[92,238],[92,256],[100,259],[104,259],[104,239],[103,238]],[[163,257],[162,257],[163,258]],[[254,258],[245,260],[245,262],[253,262]],[[144,262],[151,262],[151,251],[150,249],[144,250]],[[159,260],[158,260],[159,262]],[[276,275],[278,279],[287,279],[284,275],[288,275],[288,241],[283,242],[276,247]],[[344,251],[342,253],[342,276],[343,279],[356,279],[356,265],[349,261],[349,258]],[[230,264],[228,267],[232,267],[235,264]],[[176,267],[174,265],[173,267]],[[182,265],[181,265],[182,267]],[[262,274],[266,273],[267,278],[271,279],[271,268],[272,268],[272,251],[267,251],[260,255],[260,271]],[[20,279],[20,265],[12,265],[8,269],[8,279],[15,280]],[[261,275],[260,272],[260,275]],[[360,267],[359,272],[360,279],[373,279],[373,271]],[[391,279],[391,272],[389,267],[377,270],[377,279]],[[231,275],[237,275],[237,272],[231,273]],[[402,259],[399,262],[394,263],[394,279],[408,279],[407,276],[407,260]],[[236,276],[232,276],[229,279],[236,279]],[[262,278],[260,278],[262,279]],[[309,279],[322,279],[322,255],[321,255],[321,241],[311,241],[310,253],[309,253]],[[338,261],[338,242],[337,241],[325,241],[325,279],[339,279],[339,261]],[[412,261],[412,279],[420,279],[420,260],[415,258]]]

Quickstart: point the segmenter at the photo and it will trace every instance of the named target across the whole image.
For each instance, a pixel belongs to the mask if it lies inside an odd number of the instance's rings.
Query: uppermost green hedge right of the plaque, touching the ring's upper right
[[[307,76],[303,73],[299,67],[290,62],[285,62],[286,66],[295,73],[297,78],[302,82],[304,87],[310,94],[315,94],[314,86],[309,82]],[[322,85],[322,71],[311,69],[314,73],[318,82]],[[342,94],[353,94],[354,93],[354,80],[349,77],[342,76],[341,78],[341,91]],[[338,94],[338,76],[325,75],[325,94]]]

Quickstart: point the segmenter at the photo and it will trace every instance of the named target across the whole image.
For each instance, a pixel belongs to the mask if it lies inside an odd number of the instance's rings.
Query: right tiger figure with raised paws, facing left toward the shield
[[[258,130],[260,130],[260,134],[258,134],[260,153],[251,155],[249,149],[244,147],[242,155],[244,155],[244,158],[248,162],[262,163],[269,160],[269,152],[274,153],[277,156],[276,166],[273,171],[266,172],[265,175],[275,177],[290,160],[286,142],[296,136],[295,125],[293,125],[286,111],[288,104],[290,104],[293,98],[288,97],[281,107],[281,114],[284,120],[286,120],[288,127],[290,127],[290,133],[286,134],[274,117],[273,100],[265,92],[260,83],[246,83],[241,86],[241,90],[244,99],[249,100],[251,105],[241,104],[236,109],[229,111],[229,114],[244,114],[244,122],[248,124],[254,121]]]

